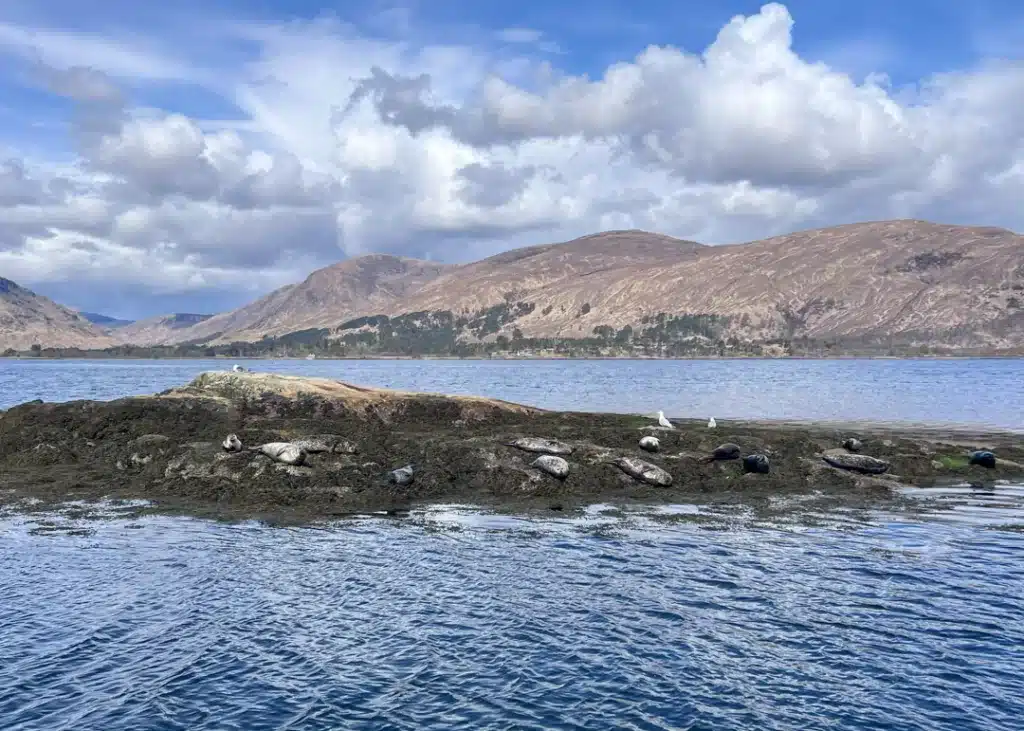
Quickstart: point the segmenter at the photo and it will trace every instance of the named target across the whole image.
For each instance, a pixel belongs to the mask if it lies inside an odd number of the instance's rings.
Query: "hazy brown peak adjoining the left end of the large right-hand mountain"
[[[452,268],[450,264],[384,254],[360,256],[317,269],[304,282],[282,287],[239,309],[189,328],[167,331],[159,343],[148,344],[252,341],[331,327],[359,314],[390,311]]]

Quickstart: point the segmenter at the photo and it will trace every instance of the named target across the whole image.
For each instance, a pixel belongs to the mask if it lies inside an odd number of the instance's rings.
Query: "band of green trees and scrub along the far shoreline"
[[[827,308],[828,302],[821,304]],[[644,315],[636,326],[615,329],[580,327],[579,337],[527,337],[520,326],[535,313],[535,303],[507,301],[472,313],[449,310],[355,317],[334,328],[310,328],[287,335],[264,335],[254,341],[210,344],[117,345],[101,350],[53,348],[41,344],[28,350],[7,348],[6,357],[40,358],[840,358],[840,357],[1017,357],[1024,346],[996,348],[976,333],[953,329],[944,333],[901,333],[893,336],[809,338],[808,318],[817,311],[784,311],[764,339],[754,322],[708,313]],[[540,311],[548,314],[549,308]],[[592,316],[584,304],[577,318]],[[759,336],[758,333],[761,333]],[[991,342],[999,342],[993,334]]]

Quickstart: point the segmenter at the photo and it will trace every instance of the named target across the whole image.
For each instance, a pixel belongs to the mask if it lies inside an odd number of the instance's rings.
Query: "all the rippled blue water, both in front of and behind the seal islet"
[[[210,367],[0,361],[0,392],[105,398]],[[548,406],[1008,427],[1024,392],[1022,367],[992,360],[259,367]],[[0,513],[0,728],[1019,731],[1024,487],[910,493],[922,515],[782,524],[701,506],[306,528]]]

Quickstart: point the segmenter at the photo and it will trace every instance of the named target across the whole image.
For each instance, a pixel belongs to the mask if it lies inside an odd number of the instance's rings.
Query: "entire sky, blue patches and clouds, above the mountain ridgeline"
[[[0,275],[126,318],[372,252],[1024,230],[1024,5],[4,0]]]

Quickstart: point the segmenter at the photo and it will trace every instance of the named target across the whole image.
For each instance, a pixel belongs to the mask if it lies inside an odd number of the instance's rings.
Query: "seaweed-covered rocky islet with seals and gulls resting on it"
[[[549,412],[328,379],[206,373],[113,401],[0,413],[0,503],[311,520],[427,503],[874,506],[901,488],[1024,479],[1024,438],[870,425]],[[802,499],[803,499],[802,498]],[[782,499],[781,501],[779,499]]]

